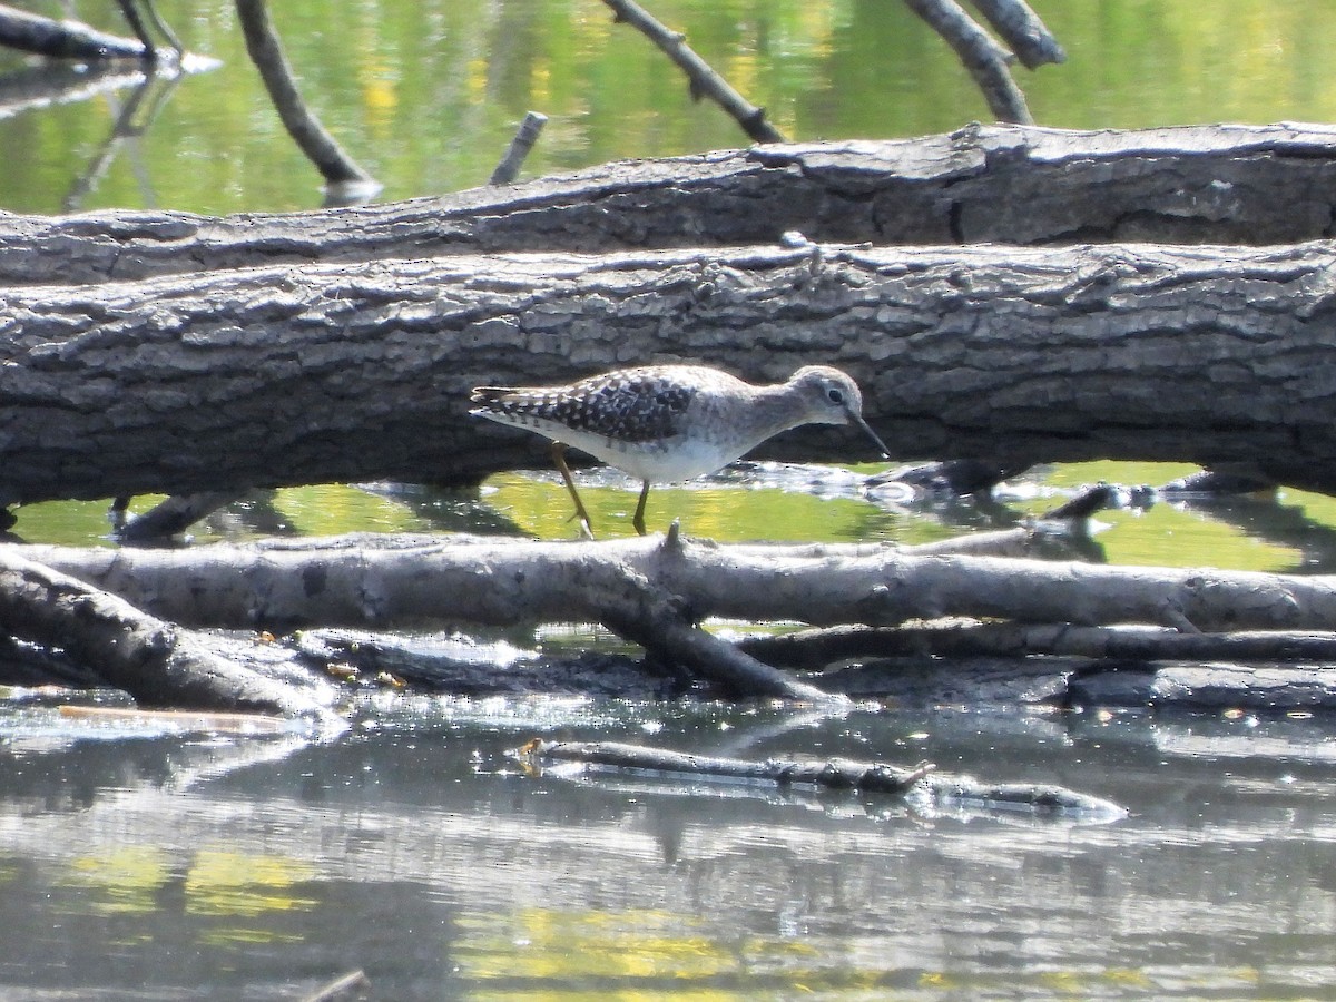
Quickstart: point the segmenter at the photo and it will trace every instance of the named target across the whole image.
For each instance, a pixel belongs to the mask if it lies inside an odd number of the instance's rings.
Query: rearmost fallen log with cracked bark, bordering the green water
[[[778,243],[1263,244],[1332,235],[1336,131],[1200,126],[1126,132],[971,126],[595,167],[508,188],[223,219],[0,214],[0,282],[452,253]]]

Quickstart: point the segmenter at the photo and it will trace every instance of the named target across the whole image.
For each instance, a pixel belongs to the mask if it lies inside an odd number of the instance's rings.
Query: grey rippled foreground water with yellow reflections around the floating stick
[[[1336,973],[1329,721],[379,697],[349,735],[9,711],[0,993],[1293,994]],[[1062,783],[1112,824],[526,775],[528,737]],[[735,791],[736,792],[736,791]]]

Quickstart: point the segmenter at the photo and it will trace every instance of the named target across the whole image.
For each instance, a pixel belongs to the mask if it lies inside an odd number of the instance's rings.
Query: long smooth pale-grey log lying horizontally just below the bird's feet
[[[887,546],[727,546],[655,536],[588,544],[350,536],[188,550],[12,552],[196,627],[383,629],[604,616],[619,623],[635,589],[609,582],[632,577],[656,596],[675,596],[689,619],[896,625],[969,616],[1189,632],[1327,629],[1336,623],[1331,577],[922,556]]]

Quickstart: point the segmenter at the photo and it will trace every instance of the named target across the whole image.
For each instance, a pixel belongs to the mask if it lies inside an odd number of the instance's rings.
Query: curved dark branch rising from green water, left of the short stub
[[[325,127],[307,110],[297,90],[293,67],[289,64],[287,56],[283,55],[283,47],[269,19],[265,0],[236,0],[236,16],[242,24],[242,33],[246,36],[246,51],[250,53],[251,61],[255,63],[255,68],[259,69],[265,90],[269,91],[287,134],[293,136],[306,158],[315,164],[329,184],[379,190],[375,179],[343,152],[334,136],[326,132]]]

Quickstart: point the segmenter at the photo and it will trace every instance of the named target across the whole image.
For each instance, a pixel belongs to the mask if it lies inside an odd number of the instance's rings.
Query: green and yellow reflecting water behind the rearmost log
[[[317,204],[319,179],[267,104],[232,4],[158,7],[191,51],[222,65],[175,88],[84,207]],[[1041,124],[1336,119],[1336,83],[1325,72],[1336,5],[1034,7],[1069,53],[1062,65],[1015,69]],[[659,0],[655,13],[687,32],[791,139],[922,135],[990,118],[954,55],[903,4]],[[79,15],[124,31],[112,4],[86,4]],[[325,3],[285,0],[273,16],[307,100],[385,183],[386,199],[485,183],[529,110],[550,118],[529,176],[747,142],[716,107],[692,102],[680,72],[633,29],[613,24],[600,0],[365,0],[341,8],[335,24]],[[0,57],[0,69],[20,65]],[[128,96],[122,90],[0,119],[0,206],[59,211]]]

